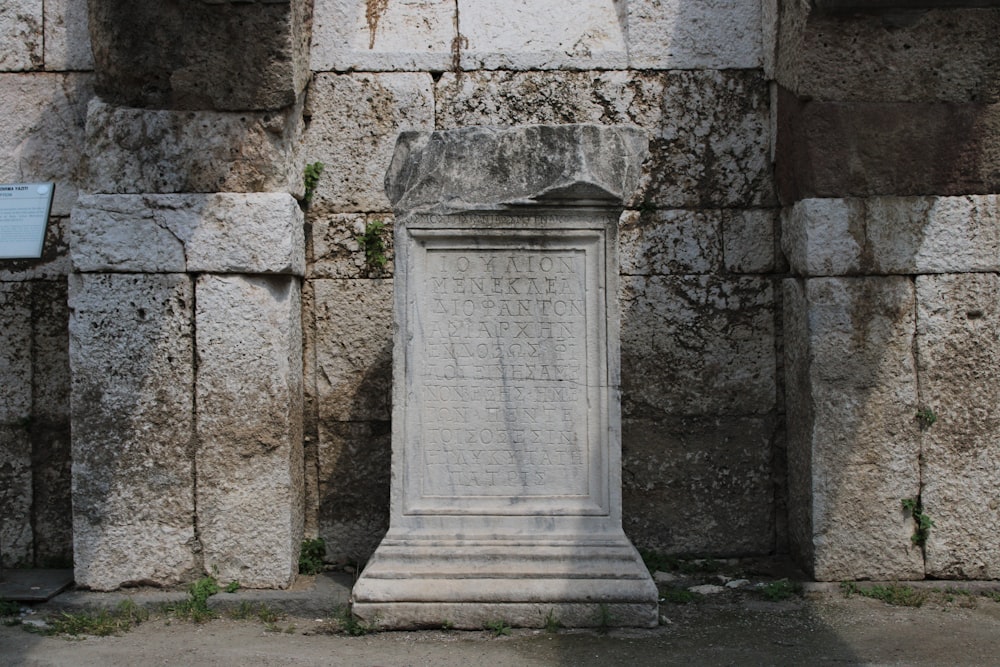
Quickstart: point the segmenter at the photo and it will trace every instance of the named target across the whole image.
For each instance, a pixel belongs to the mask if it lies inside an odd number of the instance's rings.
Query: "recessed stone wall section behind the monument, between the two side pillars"
[[[317,0],[299,159],[325,165],[307,211],[306,452],[310,528],[331,560],[364,560],[388,518],[391,265],[365,266],[357,237],[391,225],[396,135],[530,123],[629,123],[651,139],[621,238],[629,536],[670,553],[780,548],[784,266],[763,25],[756,0]]]

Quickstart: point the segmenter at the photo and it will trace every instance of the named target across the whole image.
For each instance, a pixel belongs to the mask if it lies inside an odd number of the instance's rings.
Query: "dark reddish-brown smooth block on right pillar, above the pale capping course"
[[[822,102],[778,94],[783,202],[1000,191],[1000,104]]]

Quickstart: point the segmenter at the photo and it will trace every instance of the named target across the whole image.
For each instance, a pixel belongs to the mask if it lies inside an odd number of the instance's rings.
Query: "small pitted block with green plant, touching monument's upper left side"
[[[358,237],[366,225],[385,225],[381,238],[385,244],[386,263],[381,269],[365,262],[365,252]],[[378,278],[391,277],[393,269],[392,223],[390,213],[334,213],[313,220],[310,236],[309,276],[312,278]]]

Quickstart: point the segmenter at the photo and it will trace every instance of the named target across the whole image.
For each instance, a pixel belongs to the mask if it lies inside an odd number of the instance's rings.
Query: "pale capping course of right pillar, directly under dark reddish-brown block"
[[[998,220],[996,195],[804,199],[782,243],[807,276],[996,271]]]

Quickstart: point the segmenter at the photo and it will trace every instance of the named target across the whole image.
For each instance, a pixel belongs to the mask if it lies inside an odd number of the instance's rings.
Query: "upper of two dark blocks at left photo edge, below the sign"
[[[31,417],[31,291],[28,282],[0,282],[0,424]]]

